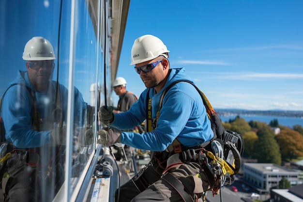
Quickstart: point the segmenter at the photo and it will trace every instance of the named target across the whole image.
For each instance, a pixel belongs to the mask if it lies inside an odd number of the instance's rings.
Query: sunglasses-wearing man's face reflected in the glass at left
[[[47,85],[54,70],[55,63],[49,61],[27,61],[26,68],[30,78],[30,83],[37,88],[38,86]]]

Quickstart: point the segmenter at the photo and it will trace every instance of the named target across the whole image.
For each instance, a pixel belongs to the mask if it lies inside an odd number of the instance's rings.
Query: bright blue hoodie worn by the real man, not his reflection
[[[184,68],[170,69],[169,76],[160,92],[150,89],[152,98],[152,118],[155,118],[162,92],[177,80],[195,81],[185,74]],[[115,114],[114,122],[110,125],[119,129],[131,129],[146,119],[146,93],[144,90],[138,101],[128,111]],[[179,82],[166,93],[157,127],[152,132],[136,133],[122,132],[121,143],[129,146],[151,150],[164,151],[175,138],[187,147],[197,146],[211,140],[213,132],[210,120],[202,98],[196,88],[187,82]]]

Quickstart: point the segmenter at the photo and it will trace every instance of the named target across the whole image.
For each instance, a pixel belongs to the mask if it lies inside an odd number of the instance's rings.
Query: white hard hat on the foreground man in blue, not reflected
[[[150,34],[140,36],[135,40],[132,47],[132,62],[130,65],[155,59],[159,55],[168,52],[169,50],[158,37]]]

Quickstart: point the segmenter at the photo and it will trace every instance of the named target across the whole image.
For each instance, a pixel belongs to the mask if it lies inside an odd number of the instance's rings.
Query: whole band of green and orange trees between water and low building
[[[247,123],[239,116],[222,124],[226,129],[242,135],[245,144],[244,156],[257,159],[258,163],[281,165],[282,161],[303,158],[301,125],[289,128],[279,125],[275,119],[269,125],[258,121]],[[279,127],[280,133],[275,134],[273,127]]]

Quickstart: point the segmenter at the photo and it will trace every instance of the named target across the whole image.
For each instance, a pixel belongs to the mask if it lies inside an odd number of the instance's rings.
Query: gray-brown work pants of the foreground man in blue
[[[155,162],[147,166],[143,174],[134,177],[120,189],[119,202],[183,202],[180,194],[169,183],[163,180],[164,169]],[[194,197],[202,197],[203,188],[206,190],[208,184],[203,182],[196,175],[200,172],[200,165],[197,162],[186,162],[172,167],[168,170],[170,174],[179,179],[185,190]],[[116,202],[119,190],[116,191]],[[202,202],[199,199],[198,202]]]

